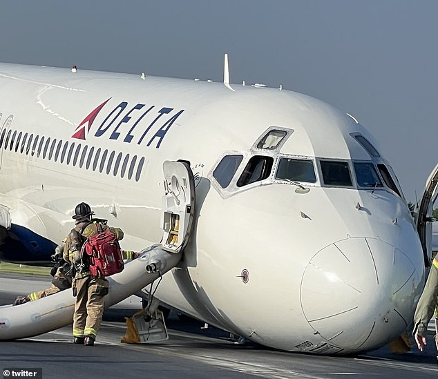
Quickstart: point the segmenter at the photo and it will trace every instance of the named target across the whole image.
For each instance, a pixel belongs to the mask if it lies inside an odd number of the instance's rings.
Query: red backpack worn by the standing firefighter
[[[122,250],[119,242],[109,229],[102,231],[97,224],[97,234],[88,237],[82,246],[82,252],[90,257],[91,275],[109,276],[124,269]]]

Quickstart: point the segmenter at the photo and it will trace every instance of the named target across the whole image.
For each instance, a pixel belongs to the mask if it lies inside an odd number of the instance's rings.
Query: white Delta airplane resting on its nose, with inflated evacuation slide
[[[220,83],[0,64],[0,125],[3,259],[44,263],[86,202],[142,251],[109,278],[108,306],[160,278],[160,304],[314,354],[412,324],[438,165],[417,231],[379,144],[334,106],[231,84],[227,55]],[[0,307],[0,340],[71,322],[63,292]]]

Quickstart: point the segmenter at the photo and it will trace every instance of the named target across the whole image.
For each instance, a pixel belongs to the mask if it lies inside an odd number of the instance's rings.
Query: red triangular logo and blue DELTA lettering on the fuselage
[[[111,97],[85,117],[75,129],[72,137],[85,140],[97,115],[110,100]],[[155,106],[144,108],[145,106],[146,104],[138,103],[130,108],[127,101],[122,101],[106,115],[95,131],[94,137],[106,135],[109,136],[108,139],[122,139],[128,144],[131,142],[137,145],[144,143],[146,146],[155,144],[153,145],[155,148],[160,148],[166,133],[184,109],[173,112],[174,109],[169,107],[162,107],[158,110]]]

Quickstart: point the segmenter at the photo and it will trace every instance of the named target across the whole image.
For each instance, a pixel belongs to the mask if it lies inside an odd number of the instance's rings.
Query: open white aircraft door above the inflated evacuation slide
[[[189,241],[195,212],[195,180],[186,162],[164,161],[163,249],[179,253]]]

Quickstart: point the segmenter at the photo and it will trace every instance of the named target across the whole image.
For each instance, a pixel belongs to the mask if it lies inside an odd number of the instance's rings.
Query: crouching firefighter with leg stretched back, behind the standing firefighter
[[[55,249],[55,254],[52,255],[52,260],[55,264],[50,274],[53,276],[52,284],[48,289],[43,289],[41,291],[36,291],[29,293],[26,296],[19,296],[15,299],[13,305],[24,304],[25,302],[32,302],[46,296],[53,295],[59,291],[64,291],[71,286],[71,274],[70,274],[70,263],[66,262],[62,257],[64,251],[64,242],[57,246]]]

